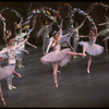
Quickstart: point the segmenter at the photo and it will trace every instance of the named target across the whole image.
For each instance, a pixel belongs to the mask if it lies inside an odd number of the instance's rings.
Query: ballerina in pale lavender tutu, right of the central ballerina
[[[95,23],[93,22],[95,25]],[[104,47],[95,44],[97,39],[97,27],[95,26],[94,28],[90,28],[89,35],[86,36],[80,36],[80,37],[88,37],[89,41],[80,41],[78,44],[83,46],[83,53],[85,51],[89,55],[88,58],[88,64],[87,64],[87,73],[89,73],[89,68],[92,63],[92,58],[93,56],[97,56],[104,52]]]

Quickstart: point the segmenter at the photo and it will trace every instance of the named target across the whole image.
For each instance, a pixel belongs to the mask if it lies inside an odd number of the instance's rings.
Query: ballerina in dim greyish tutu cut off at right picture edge
[[[105,16],[105,21],[106,21],[105,23],[98,24],[99,26],[102,26],[102,25],[106,26],[105,29],[98,33],[98,36],[104,36],[104,37],[109,36],[109,17]],[[106,47],[106,51],[108,52],[108,38],[105,40],[105,47]]]

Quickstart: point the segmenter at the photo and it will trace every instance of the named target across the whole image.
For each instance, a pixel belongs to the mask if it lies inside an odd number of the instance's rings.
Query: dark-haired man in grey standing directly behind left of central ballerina
[[[37,32],[37,38],[39,37],[39,35],[43,33],[43,52],[44,55],[46,53],[46,49],[48,46],[48,41],[49,41],[49,28],[53,25],[53,22],[51,22],[50,25],[48,25],[47,21],[43,21],[43,26],[40,27],[40,29]]]

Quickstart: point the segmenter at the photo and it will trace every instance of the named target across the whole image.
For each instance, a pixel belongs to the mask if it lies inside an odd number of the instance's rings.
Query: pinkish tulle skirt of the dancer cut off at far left
[[[12,75],[15,65],[7,65],[4,68],[0,66],[0,80],[7,78]]]

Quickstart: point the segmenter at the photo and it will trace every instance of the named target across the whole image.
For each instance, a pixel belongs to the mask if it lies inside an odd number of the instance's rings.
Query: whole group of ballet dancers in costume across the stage
[[[87,73],[90,72],[92,58],[94,56],[101,55],[105,49],[102,46],[96,44],[96,39],[98,36],[105,36],[104,41],[106,46],[106,51],[108,52],[107,43],[109,38],[109,17],[106,16],[107,20],[106,23],[99,24],[99,26],[106,25],[106,28],[102,29],[101,32],[98,33],[97,27],[94,26],[89,28],[88,35],[80,35],[78,31],[85,24],[85,20],[80,26],[77,26],[77,22],[74,22],[73,23],[74,27],[70,28],[68,33],[63,35],[63,29],[62,29],[63,20],[61,19],[61,23],[59,25],[58,31],[55,31],[51,37],[49,36],[49,27],[51,27],[55,22],[48,24],[48,22],[44,20],[41,27],[37,32],[37,39],[40,36],[40,34],[43,35],[44,56],[40,58],[40,61],[44,64],[49,64],[49,63],[52,64],[56,88],[58,88],[58,78],[57,78],[57,73],[59,72],[58,68],[66,65],[66,63],[71,61],[72,56],[73,58],[78,58],[74,56],[81,56],[84,58],[86,57],[87,53],[88,55]],[[20,23],[14,24],[15,26],[14,38],[12,38],[11,31],[7,31],[5,25],[3,27],[3,35],[4,35],[3,38],[5,43],[5,48],[2,48],[2,50],[0,51],[0,61],[3,61],[4,58],[7,58],[8,64],[5,66],[0,66],[0,97],[1,97],[1,101],[4,105],[5,105],[5,100],[2,95],[1,81],[7,80],[9,89],[16,88],[12,84],[12,80],[14,75],[16,75],[17,77],[22,77],[22,75],[15,71],[15,64],[17,63],[20,69],[24,68],[24,65],[22,64],[24,52],[29,53],[25,49],[25,44],[34,47],[35,49],[37,48],[35,45],[28,43],[29,34],[32,33],[34,27],[32,27],[32,29],[29,29],[28,32],[23,33],[22,21],[23,19],[21,20]],[[94,22],[92,24],[95,25]],[[73,51],[70,48],[71,45],[69,41],[66,41],[69,46],[66,48],[61,49],[62,39],[65,37],[73,37]],[[81,38],[88,37],[89,40],[80,41],[80,37]],[[83,47],[83,52],[77,52],[78,45]],[[53,48],[52,51],[50,51],[50,48]]]

